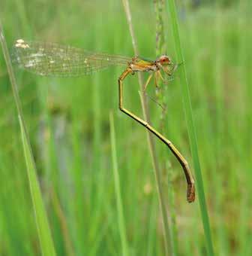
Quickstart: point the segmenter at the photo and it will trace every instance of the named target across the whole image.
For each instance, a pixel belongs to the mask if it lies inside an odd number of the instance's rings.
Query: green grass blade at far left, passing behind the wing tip
[[[17,90],[17,82],[15,79],[13,67],[10,61],[10,54],[7,50],[7,44],[5,40],[4,31],[1,26],[1,21],[0,21],[0,41],[1,41],[1,47],[2,47],[3,53],[5,56],[7,72],[9,74],[10,84],[13,90],[13,97],[17,107],[17,113],[18,113],[19,122],[20,122],[23,150],[24,150],[24,155],[26,159],[28,181],[29,181],[30,190],[31,190],[31,199],[34,206],[34,215],[36,218],[37,232],[40,240],[40,248],[44,256],[54,256],[55,248],[52,242],[51,232],[49,230],[49,223],[46,217],[46,211],[43,206],[43,199],[40,192],[40,186],[37,181],[36,166],[35,166],[34,158],[31,151],[31,145],[28,139],[28,133],[26,131],[26,126],[23,118],[23,111],[20,103],[20,96]]]

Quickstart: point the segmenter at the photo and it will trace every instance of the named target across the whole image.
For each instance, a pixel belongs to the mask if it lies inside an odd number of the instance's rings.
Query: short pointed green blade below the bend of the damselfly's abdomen
[[[110,142],[111,142],[111,153],[112,153],[112,161],[113,161],[113,176],[115,182],[115,195],[116,195],[116,205],[118,212],[118,226],[121,237],[121,248],[122,255],[127,256],[128,254],[128,246],[127,246],[127,238],[126,238],[126,228],[124,224],[124,214],[123,214],[123,206],[121,200],[121,185],[120,178],[118,174],[118,163],[116,156],[116,146],[115,146],[115,125],[113,113],[110,111]]]

